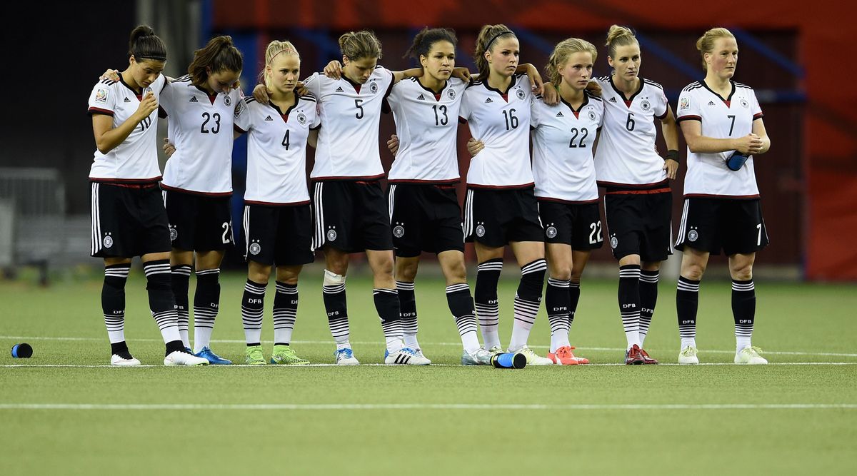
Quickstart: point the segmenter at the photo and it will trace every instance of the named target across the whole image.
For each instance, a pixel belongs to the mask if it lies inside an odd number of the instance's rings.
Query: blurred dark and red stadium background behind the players
[[[0,269],[15,276],[33,266],[43,273],[76,265],[100,267],[99,260],[87,256],[87,172],[94,140],[86,99],[105,68],[127,65],[128,35],[137,24],[151,25],[165,39],[170,55],[165,73],[171,76],[185,74],[193,51],[212,35],[231,35],[244,54],[242,84],[249,92],[270,39],[297,45],[306,76],[339,58],[337,39],[345,31],[375,30],[383,44],[380,63],[405,68],[410,62],[402,54],[419,29],[452,27],[458,33],[459,65],[474,69],[471,55],[479,28],[505,23],[518,33],[522,62],[541,68],[558,40],[578,36],[599,47],[596,74],[602,75],[609,73],[603,38],[611,24],[619,23],[636,29],[644,57],[641,75],[661,83],[673,104],[683,86],[704,76],[695,49],[698,36],[714,26],[733,31],[740,45],[736,80],[756,89],[774,144],[757,164],[771,236],[770,247],[758,259],[757,275],[857,280],[857,266],[852,265],[857,247],[850,241],[857,232],[857,90],[846,86],[857,68],[847,57],[852,37],[844,23],[847,11],[846,3],[821,1],[807,8],[796,0],[10,3],[5,16],[19,27],[3,31],[3,45],[9,56],[15,51],[10,59],[21,91],[7,94],[11,104],[3,119]],[[387,166],[393,158],[383,143],[393,131],[393,119],[387,116],[379,138]],[[460,151],[468,136],[463,128]],[[464,176],[464,155],[460,161]],[[245,141],[238,140],[233,223],[241,223],[245,170]],[[679,178],[673,185],[676,222],[681,189]],[[232,253],[229,265],[242,266],[237,254]],[[472,263],[472,250],[469,258]],[[713,260],[711,272],[725,277],[724,262]],[[612,277],[614,266],[605,247],[588,272],[600,270]]]

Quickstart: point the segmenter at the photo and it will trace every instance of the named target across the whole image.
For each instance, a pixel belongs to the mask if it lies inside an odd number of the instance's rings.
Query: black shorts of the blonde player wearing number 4
[[[309,204],[244,205],[244,259],[262,265],[312,263],[313,220]]]

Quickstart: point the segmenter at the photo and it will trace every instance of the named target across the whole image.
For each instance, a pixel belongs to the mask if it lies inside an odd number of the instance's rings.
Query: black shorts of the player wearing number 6
[[[670,243],[673,193],[605,193],[613,256],[622,259],[638,254],[642,261],[663,261],[673,253]]]

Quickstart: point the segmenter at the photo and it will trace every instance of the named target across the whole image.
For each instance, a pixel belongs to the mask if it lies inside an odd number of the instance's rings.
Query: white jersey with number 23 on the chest
[[[161,95],[176,152],[164,168],[163,187],[206,195],[232,193],[233,126],[243,107],[241,91],[210,96],[189,75],[172,80]]]

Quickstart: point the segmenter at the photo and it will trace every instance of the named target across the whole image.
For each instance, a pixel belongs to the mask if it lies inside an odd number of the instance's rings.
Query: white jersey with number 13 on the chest
[[[417,78],[393,86],[387,103],[393,110],[399,151],[387,175],[390,182],[458,181],[458,109],[467,83],[450,78],[439,93]]]

